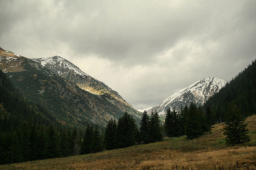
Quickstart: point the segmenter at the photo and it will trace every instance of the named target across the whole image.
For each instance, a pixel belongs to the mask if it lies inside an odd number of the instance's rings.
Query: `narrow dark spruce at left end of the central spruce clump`
[[[116,131],[116,122],[115,119],[110,119],[108,124],[106,125],[106,129],[104,132],[104,144],[106,149],[114,149],[115,148],[115,131]]]

